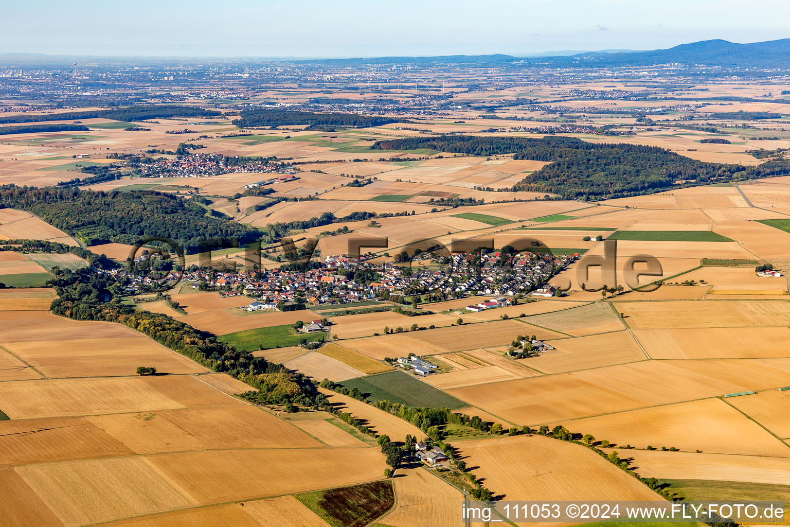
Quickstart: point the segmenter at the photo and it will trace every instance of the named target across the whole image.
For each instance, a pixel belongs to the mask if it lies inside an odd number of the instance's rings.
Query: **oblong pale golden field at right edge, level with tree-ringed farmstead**
[[[790,328],[786,326],[634,329],[634,337],[652,359],[756,359],[790,356]]]

